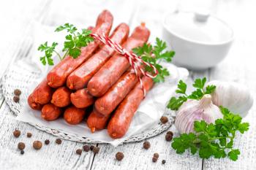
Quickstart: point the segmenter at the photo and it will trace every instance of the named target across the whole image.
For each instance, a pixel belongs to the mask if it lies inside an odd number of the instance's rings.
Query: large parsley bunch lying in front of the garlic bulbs
[[[194,155],[197,150],[200,158],[225,158],[232,161],[238,159],[240,151],[233,148],[236,132],[244,134],[249,130],[249,123],[241,123],[242,118],[224,107],[220,107],[223,119],[207,124],[206,121],[195,121],[195,133],[181,134],[173,139],[172,147],[177,153],[190,150]]]

